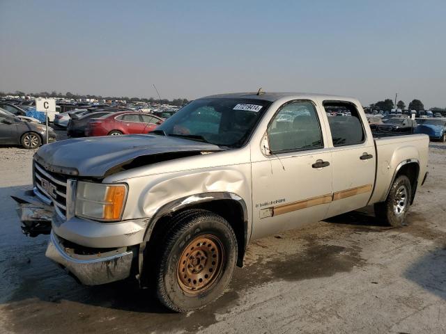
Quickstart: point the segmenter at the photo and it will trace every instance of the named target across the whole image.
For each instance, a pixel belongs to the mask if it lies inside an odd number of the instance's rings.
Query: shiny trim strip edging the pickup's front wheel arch
[[[160,220],[160,218],[174,214],[175,212],[178,212],[181,209],[186,209],[187,207],[192,207],[197,204],[205,203],[205,202],[212,202],[214,200],[236,200],[243,211],[243,230],[244,230],[244,245],[243,249],[240,249],[238,252],[238,261],[237,264],[239,267],[243,266],[243,257],[245,256],[245,249],[248,244],[248,239],[251,235],[251,225],[249,225],[249,219],[248,219],[248,211],[247,211],[247,205],[245,200],[238,196],[236,193],[230,193],[230,192],[209,192],[209,193],[197,193],[195,195],[186,196],[183,198],[178,198],[177,200],[174,200],[172,202],[169,202],[160,209],[157,210],[155,215],[148,221],[146,232],[144,234],[143,242],[139,246],[139,255],[138,255],[138,267],[139,267],[139,275],[138,278],[140,278],[141,273],[143,271],[143,265],[144,265],[144,250],[146,249],[146,245],[148,241],[151,238],[151,234],[153,232],[153,228],[155,227],[157,221]]]

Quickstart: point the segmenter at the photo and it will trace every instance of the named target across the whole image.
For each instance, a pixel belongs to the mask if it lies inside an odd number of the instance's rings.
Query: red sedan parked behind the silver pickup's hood
[[[121,134],[146,134],[164,120],[148,113],[120,111],[101,118],[93,118],[85,129],[85,136],[119,136]]]

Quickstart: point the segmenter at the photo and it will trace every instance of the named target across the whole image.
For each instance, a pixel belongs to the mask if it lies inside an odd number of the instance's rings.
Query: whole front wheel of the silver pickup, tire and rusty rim
[[[157,259],[153,274],[161,303],[175,312],[188,312],[220,297],[237,259],[231,225],[213,212],[187,210],[172,218],[164,235],[152,254]]]

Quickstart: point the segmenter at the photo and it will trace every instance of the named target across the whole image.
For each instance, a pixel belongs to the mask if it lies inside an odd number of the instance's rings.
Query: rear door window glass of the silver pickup
[[[353,104],[348,102],[333,102],[332,104],[324,102],[324,107],[325,110],[328,108],[347,109],[351,113],[343,113],[342,116],[328,118],[334,147],[364,143],[364,128],[360,115]]]

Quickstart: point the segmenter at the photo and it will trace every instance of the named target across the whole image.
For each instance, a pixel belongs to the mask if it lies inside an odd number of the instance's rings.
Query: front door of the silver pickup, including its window
[[[270,122],[270,152],[252,154],[260,157],[252,161],[252,239],[324,218],[332,198],[332,160],[320,120],[312,101],[295,100]]]

